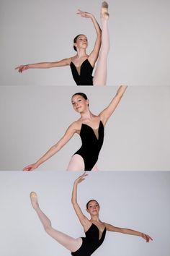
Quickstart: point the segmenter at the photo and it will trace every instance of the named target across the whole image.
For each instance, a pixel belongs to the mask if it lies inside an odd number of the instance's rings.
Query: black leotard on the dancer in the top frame
[[[76,66],[71,61],[70,64],[71,72],[73,75],[73,80],[76,82],[76,85],[93,85],[93,67],[89,63],[89,60],[86,59],[82,64],[80,68],[80,74],[78,73]]]

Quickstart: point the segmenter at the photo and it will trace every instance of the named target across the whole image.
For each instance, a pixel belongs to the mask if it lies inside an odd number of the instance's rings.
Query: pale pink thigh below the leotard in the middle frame
[[[78,154],[73,155],[70,163],[68,164],[67,171],[84,171],[84,169],[84,158]]]

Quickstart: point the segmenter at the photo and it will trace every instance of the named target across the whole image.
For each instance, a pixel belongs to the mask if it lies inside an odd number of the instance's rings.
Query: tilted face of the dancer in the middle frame
[[[71,98],[71,103],[73,105],[73,108],[76,112],[81,113],[85,111],[88,107],[89,100],[86,100],[81,95],[74,95]]]

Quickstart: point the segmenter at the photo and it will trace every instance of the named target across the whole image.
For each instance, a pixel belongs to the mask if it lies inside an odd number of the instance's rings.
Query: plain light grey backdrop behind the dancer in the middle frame
[[[0,88],[0,170],[22,170],[63,136],[68,125],[79,119],[71,106],[71,95],[78,91],[66,86]],[[88,95],[92,113],[99,114],[117,87],[81,91]],[[99,170],[169,170],[169,99],[169,87],[128,88],[105,127]],[[74,135],[39,168],[66,170],[80,146],[79,135]]]

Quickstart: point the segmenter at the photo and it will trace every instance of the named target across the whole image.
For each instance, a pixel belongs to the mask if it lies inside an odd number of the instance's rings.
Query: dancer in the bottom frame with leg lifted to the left
[[[90,215],[90,219],[84,216],[84,213],[81,211],[79,204],[77,202],[77,186],[82,182],[87,174],[81,175],[73,184],[72,192],[72,204],[76,212],[76,215],[81,222],[81,225],[84,228],[86,237],[79,237],[73,239],[71,236],[63,234],[61,231],[53,229],[51,222],[45,213],[40,210],[40,207],[37,202],[37,195],[35,192],[30,193],[30,199],[32,202],[32,207],[37,212],[37,216],[40,218],[42,225],[45,231],[53,237],[57,242],[62,244],[66,249],[71,251],[71,255],[74,256],[90,256],[93,252],[100,247],[104,241],[106,231],[115,231],[122,234],[130,234],[134,236],[140,236],[149,242],[151,237],[148,234],[143,234],[141,232],[132,230],[132,229],[123,229],[112,226],[111,224],[100,221],[99,219],[99,203],[96,200],[90,200],[86,204],[86,210]],[[151,239],[152,240],[152,239]]]

